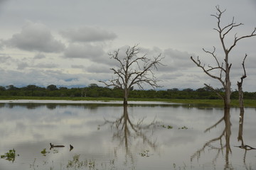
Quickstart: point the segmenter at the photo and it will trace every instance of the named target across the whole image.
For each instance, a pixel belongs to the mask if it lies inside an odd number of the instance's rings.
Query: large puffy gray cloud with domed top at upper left
[[[21,50],[38,52],[61,52],[65,45],[55,40],[50,30],[41,23],[27,23],[21,30],[9,40],[4,40],[5,45],[17,47]]]

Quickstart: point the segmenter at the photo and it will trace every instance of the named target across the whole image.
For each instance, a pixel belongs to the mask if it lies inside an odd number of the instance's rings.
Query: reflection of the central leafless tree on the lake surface
[[[129,155],[132,162],[134,162],[131,149],[129,149],[132,146],[132,140],[135,141],[142,139],[143,145],[148,145],[151,147],[151,149],[154,149],[154,151],[157,148],[156,141],[150,140],[146,135],[146,130],[151,129],[153,132],[154,128],[156,128],[157,122],[153,120],[149,125],[143,125],[143,122],[144,118],[142,118],[142,120],[138,120],[137,123],[132,123],[128,115],[127,106],[124,105],[124,113],[121,118],[118,118],[114,121],[105,120],[105,123],[100,126],[109,124],[110,127],[115,130],[113,134],[113,140],[119,140],[119,147],[124,145],[127,155]]]

